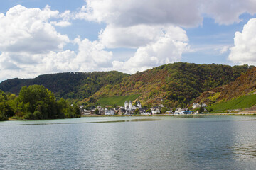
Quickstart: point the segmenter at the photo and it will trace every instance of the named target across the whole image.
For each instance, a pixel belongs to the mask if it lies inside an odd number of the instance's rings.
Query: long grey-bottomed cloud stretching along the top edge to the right
[[[211,16],[217,23],[239,22],[242,13],[256,13],[252,0],[85,0],[76,18],[127,27],[138,24],[174,24],[194,27]]]

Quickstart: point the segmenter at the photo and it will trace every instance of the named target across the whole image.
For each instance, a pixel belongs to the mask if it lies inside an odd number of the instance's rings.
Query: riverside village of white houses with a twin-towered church
[[[207,105],[205,103],[193,103],[192,109],[188,108],[173,108],[167,109],[163,105],[144,108],[140,101],[136,101],[135,105],[132,101],[125,101],[124,106],[119,106],[116,108],[102,108],[102,106],[97,106],[90,110],[86,110],[84,106],[80,106],[81,114],[86,115],[156,115],[156,114],[166,114],[166,115],[188,115],[188,114],[198,114],[199,111],[194,111],[196,108],[203,108],[203,112],[207,112]],[[163,109],[164,108],[164,109]],[[192,111],[193,110],[193,111]]]

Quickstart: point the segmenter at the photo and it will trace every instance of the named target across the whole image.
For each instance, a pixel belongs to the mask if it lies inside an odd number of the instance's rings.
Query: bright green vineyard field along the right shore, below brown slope
[[[238,108],[250,108],[256,104],[256,94],[242,96],[235,98],[230,101],[223,101],[220,103],[215,103],[209,106],[207,109],[213,108],[213,111],[226,111]]]

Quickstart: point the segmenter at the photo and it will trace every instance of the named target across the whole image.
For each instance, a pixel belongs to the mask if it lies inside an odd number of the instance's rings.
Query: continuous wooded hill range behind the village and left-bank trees
[[[0,89],[17,94],[21,86],[39,84],[53,91],[57,98],[70,98],[83,104],[89,98],[97,102],[100,98],[141,94],[142,105],[161,103],[176,107],[191,103],[203,91],[235,81],[250,68],[248,65],[231,67],[177,62],[132,75],[116,71],[75,72],[46,74],[35,79],[9,79],[1,82]]]

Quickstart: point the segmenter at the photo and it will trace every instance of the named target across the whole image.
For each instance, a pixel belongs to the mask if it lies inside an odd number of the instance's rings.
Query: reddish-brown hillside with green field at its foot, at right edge
[[[213,104],[215,110],[247,108],[256,104],[255,91],[256,68],[252,68],[230,84],[203,92],[195,102]]]

